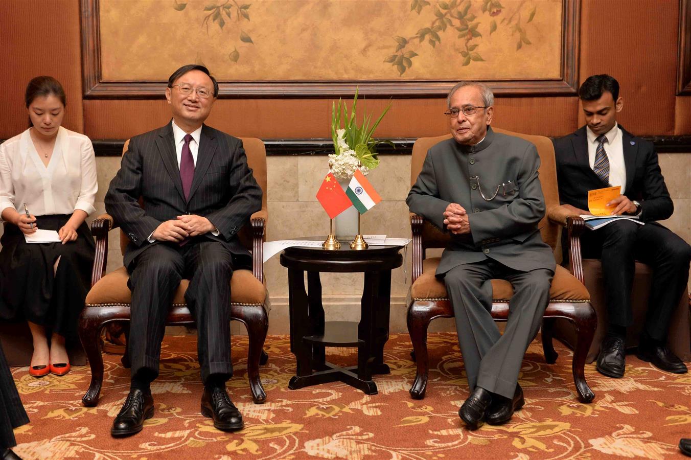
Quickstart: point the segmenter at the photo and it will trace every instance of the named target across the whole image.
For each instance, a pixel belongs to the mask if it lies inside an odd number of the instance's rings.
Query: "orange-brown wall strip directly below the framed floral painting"
[[[332,99],[220,99],[207,123],[221,131],[263,139],[331,137]],[[373,118],[388,99],[359,101]],[[422,137],[448,131],[445,99],[394,99],[376,134]],[[495,99],[495,126],[522,133],[563,135],[576,129],[574,97]],[[126,139],[158,128],[170,119],[165,100],[84,101],[84,133],[92,139]],[[361,118],[360,118],[361,120]]]

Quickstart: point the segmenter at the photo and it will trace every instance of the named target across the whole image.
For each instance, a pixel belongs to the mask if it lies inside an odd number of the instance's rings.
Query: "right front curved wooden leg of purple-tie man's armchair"
[[[231,305],[231,318],[245,323],[249,350],[247,352],[247,378],[249,389],[252,391],[252,399],[255,404],[266,401],[266,392],[261,384],[259,376],[259,361],[264,348],[264,341],[269,330],[269,318],[266,310],[261,305]]]

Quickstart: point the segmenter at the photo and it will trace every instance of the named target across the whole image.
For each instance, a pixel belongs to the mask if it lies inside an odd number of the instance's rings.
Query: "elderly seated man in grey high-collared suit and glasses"
[[[453,305],[471,389],[459,415],[475,429],[506,423],[523,405],[518,373],[556,263],[538,229],[545,199],[536,147],[492,131],[494,95],[484,84],[461,82],[446,102],[453,138],[430,148],[407,203],[451,233],[437,276]],[[493,278],[513,285],[503,335],[491,316]]]

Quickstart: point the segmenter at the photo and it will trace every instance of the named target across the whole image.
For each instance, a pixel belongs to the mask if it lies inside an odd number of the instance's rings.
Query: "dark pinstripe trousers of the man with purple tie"
[[[220,242],[195,238],[180,247],[158,243],[140,253],[128,267],[132,291],[129,356],[132,375],[146,369],[158,376],[165,319],[180,280],[189,279],[187,307],[197,323],[202,381],[229,379],[231,252]]]

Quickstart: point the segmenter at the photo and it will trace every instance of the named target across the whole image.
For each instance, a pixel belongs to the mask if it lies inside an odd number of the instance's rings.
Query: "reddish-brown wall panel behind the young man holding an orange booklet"
[[[678,1],[582,3],[580,83],[600,73],[615,77],[624,98],[618,119],[634,134],[674,133],[678,27]]]

